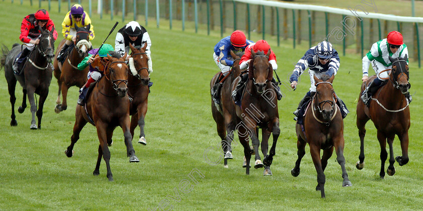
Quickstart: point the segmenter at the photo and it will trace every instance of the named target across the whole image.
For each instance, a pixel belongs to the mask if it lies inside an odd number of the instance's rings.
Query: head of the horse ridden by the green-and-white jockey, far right
[[[408,82],[410,75],[407,59],[407,55],[405,55],[404,58],[398,57],[395,59],[389,56],[389,60],[392,62],[392,71],[389,78],[394,84],[394,87],[401,90],[403,94],[406,94],[411,86]]]

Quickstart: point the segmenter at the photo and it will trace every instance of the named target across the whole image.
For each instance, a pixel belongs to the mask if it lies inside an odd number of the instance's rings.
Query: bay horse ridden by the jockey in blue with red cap
[[[234,140],[234,132],[236,130],[236,125],[238,124],[235,113],[235,105],[232,103],[231,97],[231,84],[241,74],[241,70],[239,68],[239,62],[241,60],[242,55],[236,55],[233,51],[231,51],[231,56],[234,58],[234,64],[230,73],[228,73],[226,79],[224,80],[221,88],[221,108],[216,107],[216,104],[213,100],[212,96],[212,115],[213,119],[216,122],[218,135],[222,140],[222,150],[224,155],[224,167],[228,168],[228,159],[233,159],[232,156],[232,140]],[[210,90],[212,89],[213,85],[216,83],[216,80],[219,79],[221,71],[216,73],[213,76],[212,81],[210,81]],[[228,135],[227,135],[228,134]]]

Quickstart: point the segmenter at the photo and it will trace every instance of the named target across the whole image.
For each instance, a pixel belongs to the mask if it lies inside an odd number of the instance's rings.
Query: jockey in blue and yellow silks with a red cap
[[[220,103],[220,89],[223,85],[223,81],[221,80],[228,75],[230,68],[234,64],[234,58],[231,57],[230,51],[233,51],[235,54],[244,52],[247,45],[252,43],[254,42],[247,40],[244,32],[236,30],[231,36],[223,38],[215,45],[213,59],[221,69],[221,73],[212,88],[212,96],[216,103]]]

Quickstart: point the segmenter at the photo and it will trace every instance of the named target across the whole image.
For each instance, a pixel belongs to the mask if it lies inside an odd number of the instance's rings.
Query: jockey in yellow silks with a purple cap
[[[89,39],[93,40],[94,35],[94,27],[91,24],[91,19],[88,16],[86,12],[84,12],[84,8],[82,8],[81,5],[73,5],[72,8],[70,8],[70,11],[67,12],[67,14],[64,16],[63,22],[62,22],[62,34],[63,37],[66,39],[66,42],[64,43],[62,49],[60,50],[60,53],[57,55],[57,60],[61,61],[63,60],[62,55],[64,52],[66,52],[67,48],[76,41],[76,35],[77,31],[75,30],[75,24],[78,27],[85,27],[90,25],[90,34]]]

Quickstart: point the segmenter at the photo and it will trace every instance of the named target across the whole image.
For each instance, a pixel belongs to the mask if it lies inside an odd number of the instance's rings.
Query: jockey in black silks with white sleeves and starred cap
[[[132,46],[144,46],[147,43],[146,53],[149,57],[149,73],[153,72],[153,63],[151,61],[151,40],[147,30],[140,26],[138,22],[131,21],[123,26],[116,34],[115,49],[123,56],[125,53],[129,55],[129,43]],[[129,58],[129,57],[128,57]]]

